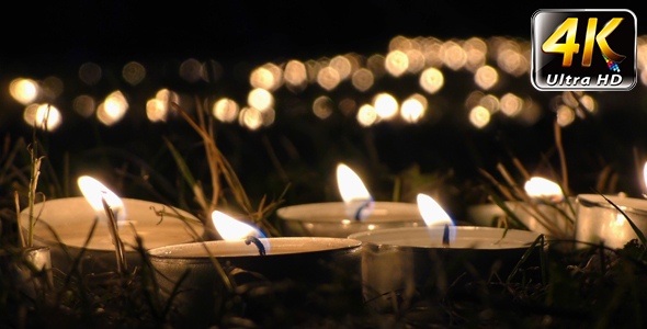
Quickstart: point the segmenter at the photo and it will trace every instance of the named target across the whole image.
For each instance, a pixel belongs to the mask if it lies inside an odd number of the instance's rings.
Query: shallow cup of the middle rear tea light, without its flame
[[[345,238],[351,234],[374,229],[424,226],[416,204],[375,202],[363,220],[349,218],[343,202],[287,206],[276,211],[283,231],[293,237]]]

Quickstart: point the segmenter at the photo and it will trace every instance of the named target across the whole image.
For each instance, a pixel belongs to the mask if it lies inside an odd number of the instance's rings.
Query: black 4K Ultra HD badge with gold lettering
[[[629,10],[538,10],[531,81],[538,90],[631,90],[637,82],[636,16]]]

